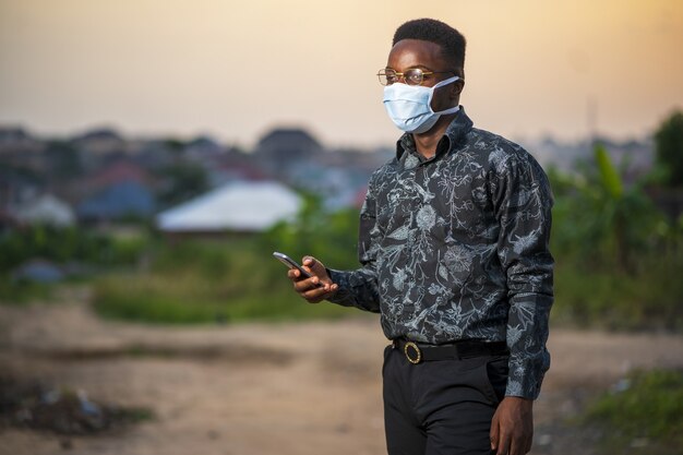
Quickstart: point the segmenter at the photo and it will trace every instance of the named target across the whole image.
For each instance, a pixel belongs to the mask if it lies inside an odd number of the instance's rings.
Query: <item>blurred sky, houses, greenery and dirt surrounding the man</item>
[[[271,253],[356,267],[375,74],[423,16],[553,185],[534,453],[683,453],[680,1],[0,0],[7,453],[383,453],[376,318]]]

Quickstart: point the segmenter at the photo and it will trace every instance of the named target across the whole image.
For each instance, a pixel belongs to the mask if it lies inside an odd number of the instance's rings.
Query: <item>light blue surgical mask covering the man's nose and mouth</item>
[[[394,83],[384,87],[384,107],[390,118],[399,130],[407,133],[423,133],[429,131],[443,115],[457,112],[459,106],[434,112],[432,98],[434,89],[459,80],[453,76],[441,81],[433,87]]]

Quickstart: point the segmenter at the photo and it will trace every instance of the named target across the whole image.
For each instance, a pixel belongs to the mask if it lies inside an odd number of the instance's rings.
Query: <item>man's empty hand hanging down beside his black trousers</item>
[[[524,455],[534,441],[534,402],[506,396],[491,421],[491,450],[496,455]]]

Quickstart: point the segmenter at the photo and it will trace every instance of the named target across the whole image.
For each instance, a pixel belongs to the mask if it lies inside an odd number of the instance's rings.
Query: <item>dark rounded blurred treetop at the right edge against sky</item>
[[[674,111],[655,132],[655,149],[664,183],[683,187],[683,111]]]

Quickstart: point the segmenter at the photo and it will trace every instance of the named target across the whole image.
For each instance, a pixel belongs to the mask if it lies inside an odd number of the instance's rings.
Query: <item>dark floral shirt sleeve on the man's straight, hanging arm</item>
[[[549,251],[553,200],[546,173],[525,154],[511,154],[495,166],[492,199],[501,227],[498,253],[510,303],[505,395],[536,399],[550,368],[546,342],[553,302],[553,259]]]

